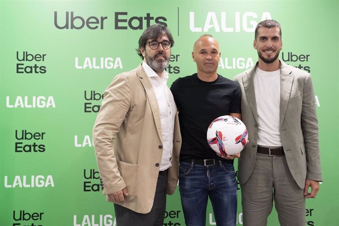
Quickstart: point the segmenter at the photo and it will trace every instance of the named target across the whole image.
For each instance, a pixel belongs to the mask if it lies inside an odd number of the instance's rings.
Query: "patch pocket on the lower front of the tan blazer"
[[[120,175],[126,183],[128,197],[126,199],[133,199],[136,195],[138,164],[131,164],[116,160]]]

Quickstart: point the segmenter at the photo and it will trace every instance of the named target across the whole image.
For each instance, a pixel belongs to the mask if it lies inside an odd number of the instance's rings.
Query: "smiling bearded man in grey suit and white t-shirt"
[[[234,78],[250,141],[238,164],[244,226],[267,225],[273,200],[282,226],[304,226],[322,180],[311,75],[279,60],[278,22],[260,22],[253,46],[258,62]]]

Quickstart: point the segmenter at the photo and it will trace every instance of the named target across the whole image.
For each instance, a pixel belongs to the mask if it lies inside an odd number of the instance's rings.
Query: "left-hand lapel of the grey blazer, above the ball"
[[[255,67],[256,65],[253,68],[251,68],[248,72],[246,72],[246,76],[243,77],[243,85],[248,100],[248,104],[252,110],[256,123],[258,123],[258,113],[256,111],[254,82],[253,82]]]

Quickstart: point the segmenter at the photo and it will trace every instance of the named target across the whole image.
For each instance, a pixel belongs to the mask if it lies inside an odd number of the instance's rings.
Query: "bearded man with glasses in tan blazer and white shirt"
[[[166,194],[177,185],[181,136],[165,71],[173,44],[168,28],[145,29],[142,64],[114,78],[95,121],[103,194],[114,202],[117,226],[162,226]]]

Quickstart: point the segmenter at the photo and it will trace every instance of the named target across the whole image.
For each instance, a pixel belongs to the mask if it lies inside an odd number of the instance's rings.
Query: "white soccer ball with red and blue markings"
[[[244,149],[248,134],[245,124],[238,118],[220,116],[208,126],[209,146],[221,155],[234,155]]]

